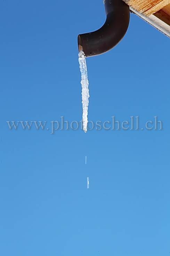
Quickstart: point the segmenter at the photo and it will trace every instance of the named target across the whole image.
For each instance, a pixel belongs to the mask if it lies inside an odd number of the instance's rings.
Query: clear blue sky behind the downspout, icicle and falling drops
[[[1,1],[2,256],[169,255],[169,38],[131,14],[123,40],[87,58],[88,119],[139,116],[140,130],[50,134],[82,118],[77,36],[104,21],[102,0]],[[154,116],[163,130],[141,130]]]

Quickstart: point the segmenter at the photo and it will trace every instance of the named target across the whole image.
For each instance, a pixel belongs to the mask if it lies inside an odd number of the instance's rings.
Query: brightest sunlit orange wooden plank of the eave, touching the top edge
[[[149,16],[164,6],[170,4],[170,0],[124,0],[129,6],[138,12]]]

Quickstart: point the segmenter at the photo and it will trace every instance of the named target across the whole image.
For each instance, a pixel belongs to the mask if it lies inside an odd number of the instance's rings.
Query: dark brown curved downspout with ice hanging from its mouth
[[[129,6],[122,0],[104,0],[106,22],[102,28],[78,35],[79,51],[86,57],[111,50],[126,34],[129,25]]]

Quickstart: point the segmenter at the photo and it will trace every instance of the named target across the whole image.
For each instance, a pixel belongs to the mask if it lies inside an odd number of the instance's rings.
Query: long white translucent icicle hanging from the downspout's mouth
[[[79,52],[79,64],[81,72],[81,86],[82,86],[82,105],[83,105],[83,131],[87,132],[87,115],[88,115],[88,104],[89,104],[89,89],[88,89],[88,77],[87,77],[87,66],[85,54],[81,50]]]

